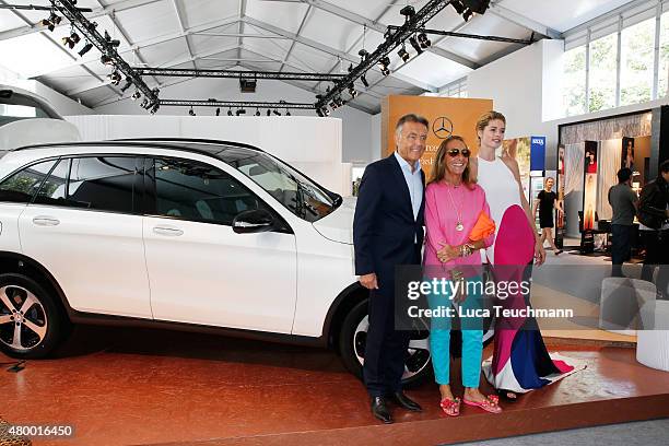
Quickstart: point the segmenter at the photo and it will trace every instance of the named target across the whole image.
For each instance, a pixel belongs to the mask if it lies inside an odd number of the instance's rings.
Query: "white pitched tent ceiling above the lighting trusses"
[[[561,38],[561,33],[580,25],[631,0],[497,0],[484,15],[468,23],[448,7],[427,27],[513,38]],[[416,10],[426,0],[79,0],[78,7],[121,42],[119,52],[131,66],[161,68],[265,71],[345,72],[360,61],[357,51],[373,51],[383,42],[387,25],[399,25],[399,10]],[[0,0],[0,4],[48,5],[47,0]],[[44,11],[0,10],[0,64],[22,77],[80,98],[95,107],[124,95],[106,80],[109,69],[99,63],[99,54],[83,58],[64,48],[60,39],[70,26],[55,32],[37,24]],[[64,21],[63,21],[64,22]],[[363,30],[366,30],[363,33]],[[364,34],[364,35],[363,35]],[[403,63],[391,55],[390,77],[374,70],[366,75],[369,87],[349,105],[375,113],[388,94],[436,92],[473,69],[521,48],[517,44],[432,36],[433,46]],[[343,70],[343,71],[342,71]],[[156,83],[174,79],[146,78]],[[290,82],[314,94],[325,83]],[[128,91],[125,96],[131,94]],[[193,97],[192,99],[200,99]],[[223,98],[221,98],[223,99]],[[290,97],[285,99],[290,101]]]

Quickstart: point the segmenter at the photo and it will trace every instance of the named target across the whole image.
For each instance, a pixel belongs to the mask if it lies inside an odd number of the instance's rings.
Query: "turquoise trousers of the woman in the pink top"
[[[460,303],[461,313],[472,313],[481,308],[481,278],[468,278],[468,296]],[[476,285],[479,284],[479,285]],[[447,290],[449,290],[447,287]],[[453,308],[450,294],[430,294],[427,296],[431,309]],[[437,384],[450,383],[450,327],[451,317],[432,317],[430,328],[430,351],[432,366]],[[479,387],[481,376],[481,356],[483,354],[483,321],[479,317],[460,318],[462,327],[462,385]]]

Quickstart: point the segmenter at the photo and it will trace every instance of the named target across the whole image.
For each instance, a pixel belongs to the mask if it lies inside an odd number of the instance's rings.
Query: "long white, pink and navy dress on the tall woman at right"
[[[498,156],[494,161],[479,157],[478,162],[479,185],[497,225],[495,243],[486,249],[488,261],[495,282],[520,283],[531,275],[535,235],[523,210],[518,183]],[[509,294],[495,305],[529,308],[529,293]],[[576,372],[567,361],[573,362],[549,354],[533,317],[501,317],[495,321],[493,356],[483,362],[483,373],[495,388],[523,394]]]

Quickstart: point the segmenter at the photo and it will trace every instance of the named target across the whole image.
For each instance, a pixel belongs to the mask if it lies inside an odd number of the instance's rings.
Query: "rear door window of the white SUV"
[[[131,213],[138,177],[136,164],[132,156],[72,160],[68,206]]]

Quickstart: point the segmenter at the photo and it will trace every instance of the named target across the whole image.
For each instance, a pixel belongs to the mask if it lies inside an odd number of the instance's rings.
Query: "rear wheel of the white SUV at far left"
[[[0,274],[0,350],[21,360],[51,353],[70,329],[56,298],[26,275]]]

